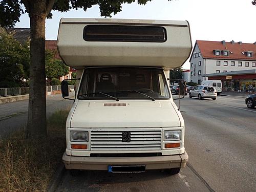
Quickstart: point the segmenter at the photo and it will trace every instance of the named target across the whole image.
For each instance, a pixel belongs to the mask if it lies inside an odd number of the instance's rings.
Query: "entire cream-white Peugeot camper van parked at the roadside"
[[[189,57],[188,22],[62,18],[57,46],[80,77],[66,124],[66,168],[178,174],[188,160],[185,127],[168,81]]]

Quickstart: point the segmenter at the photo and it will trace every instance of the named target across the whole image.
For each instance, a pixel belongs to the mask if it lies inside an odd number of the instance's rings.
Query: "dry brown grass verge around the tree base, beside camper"
[[[0,191],[46,191],[66,148],[68,111],[48,119],[47,140],[26,140],[15,132],[0,141]]]

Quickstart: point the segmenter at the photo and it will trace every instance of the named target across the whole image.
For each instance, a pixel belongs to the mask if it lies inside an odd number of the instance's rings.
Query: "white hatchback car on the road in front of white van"
[[[217,91],[212,86],[196,86],[193,90],[189,92],[189,98],[198,97],[199,99],[203,98],[212,98],[212,100],[216,100]]]

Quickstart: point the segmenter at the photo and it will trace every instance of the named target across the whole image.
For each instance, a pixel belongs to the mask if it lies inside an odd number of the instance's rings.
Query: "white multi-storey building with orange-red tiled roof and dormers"
[[[197,40],[189,59],[190,81],[208,80],[202,75],[256,69],[256,42]]]

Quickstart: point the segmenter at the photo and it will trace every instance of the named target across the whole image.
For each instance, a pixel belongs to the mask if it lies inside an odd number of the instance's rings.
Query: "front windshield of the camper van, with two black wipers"
[[[108,67],[84,71],[78,99],[168,99],[163,70]]]

